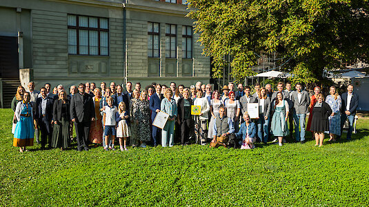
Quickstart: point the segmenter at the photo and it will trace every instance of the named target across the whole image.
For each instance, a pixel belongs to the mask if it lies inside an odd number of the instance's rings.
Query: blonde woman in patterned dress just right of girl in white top
[[[132,91],[132,99],[130,99],[130,142],[132,147],[139,145],[139,137],[137,128],[139,126],[139,90]]]

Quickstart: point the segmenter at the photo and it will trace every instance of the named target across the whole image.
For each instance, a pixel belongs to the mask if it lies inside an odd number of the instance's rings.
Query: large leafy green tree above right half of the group
[[[214,77],[226,61],[232,77],[252,75],[260,54],[277,52],[291,81],[313,83],[324,68],[368,62],[369,0],[188,0],[188,17],[213,59]]]

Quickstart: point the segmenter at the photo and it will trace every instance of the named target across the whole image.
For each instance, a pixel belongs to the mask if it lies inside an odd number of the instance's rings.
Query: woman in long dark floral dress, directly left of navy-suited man
[[[141,92],[138,104],[138,116],[137,120],[139,124],[137,126],[137,137],[140,141],[141,147],[146,148],[146,141],[150,141],[151,132],[150,132],[150,108],[148,101],[148,92],[143,90]]]

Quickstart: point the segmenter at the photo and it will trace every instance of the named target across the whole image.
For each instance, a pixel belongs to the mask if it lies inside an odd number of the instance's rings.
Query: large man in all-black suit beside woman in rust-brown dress
[[[83,83],[78,86],[79,92],[70,100],[70,119],[74,122],[77,134],[77,150],[88,151],[88,134],[91,121],[94,121],[94,103],[92,97],[86,94]]]

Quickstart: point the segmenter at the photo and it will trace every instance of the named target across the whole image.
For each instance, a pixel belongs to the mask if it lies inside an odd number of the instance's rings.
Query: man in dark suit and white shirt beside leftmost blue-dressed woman
[[[40,90],[41,97],[37,98],[34,119],[37,120],[37,125],[41,130],[41,149],[44,149],[46,144],[51,147],[51,123],[52,123],[52,103],[53,100],[47,96],[46,88]]]

